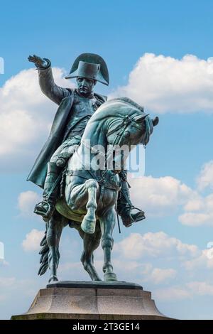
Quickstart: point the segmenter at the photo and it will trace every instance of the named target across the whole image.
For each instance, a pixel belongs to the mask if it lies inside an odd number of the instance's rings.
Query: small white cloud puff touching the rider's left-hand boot
[[[18,208],[21,211],[21,215],[28,217],[33,214],[35,204],[40,202],[40,195],[35,191],[25,191],[18,196]]]

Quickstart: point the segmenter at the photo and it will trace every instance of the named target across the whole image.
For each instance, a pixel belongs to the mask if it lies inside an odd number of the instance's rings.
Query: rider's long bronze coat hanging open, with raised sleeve
[[[53,120],[48,140],[35,160],[33,168],[28,175],[27,181],[31,181],[43,188],[47,174],[47,165],[53,153],[62,144],[62,138],[67,125],[67,117],[72,108],[74,90],[62,88],[55,84],[51,68],[38,70],[39,85],[42,92],[59,105]],[[104,103],[106,97],[94,93],[94,97]]]

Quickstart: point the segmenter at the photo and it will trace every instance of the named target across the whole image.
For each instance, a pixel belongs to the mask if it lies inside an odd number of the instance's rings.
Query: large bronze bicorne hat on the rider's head
[[[65,79],[72,77],[87,77],[97,80],[104,85],[109,85],[109,72],[104,59],[94,53],[82,53],[72,65],[70,74]]]

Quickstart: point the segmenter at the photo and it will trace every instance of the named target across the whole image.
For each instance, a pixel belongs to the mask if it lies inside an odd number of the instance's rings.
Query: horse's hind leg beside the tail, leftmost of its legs
[[[58,281],[57,268],[60,258],[58,247],[59,247],[62,228],[63,228],[62,216],[55,211],[53,213],[53,216],[50,218],[48,222],[48,230],[47,230],[47,242],[49,247],[48,264],[50,269],[49,282]]]

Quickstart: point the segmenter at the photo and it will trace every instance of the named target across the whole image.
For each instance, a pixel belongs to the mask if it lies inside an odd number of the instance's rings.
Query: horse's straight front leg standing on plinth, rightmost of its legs
[[[111,264],[111,250],[114,244],[112,232],[116,222],[114,207],[109,208],[107,212],[103,212],[102,217],[99,217],[99,221],[102,230],[102,249],[104,251],[104,281],[117,281],[116,274],[114,274]]]

